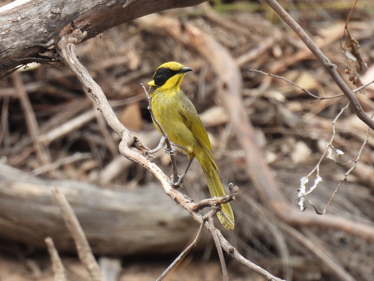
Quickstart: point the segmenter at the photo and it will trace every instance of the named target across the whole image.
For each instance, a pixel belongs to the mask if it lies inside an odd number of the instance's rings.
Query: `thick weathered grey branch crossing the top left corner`
[[[59,61],[55,52],[56,42],[62,33],[75,28],[87,31],[87,40],[135,18],[162,10],[194,6],[204,1],[13,1],[0,8],[0,71],[33,61]]]

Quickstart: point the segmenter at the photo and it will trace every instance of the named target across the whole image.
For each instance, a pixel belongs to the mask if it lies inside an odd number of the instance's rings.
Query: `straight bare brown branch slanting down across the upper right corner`
[[[349,102],[352,104],[352,108],[355,111],[358,118],[360,118],[365,124],[367,124],[372,130],[374,130],[374,121],[365,113],[360,102],[358,101],[355,94],[352,93],[348,85],[340,77],[336,71],[336,65],[332,64],[331,61],[325,56],[325,54],[316,46],[308,34],[301,28],[301,26],[282,8],[282,6],[276,0],[265,0],[267,4],[295,31],[305,45],[312,51],[315,57],[321,61],[325,66],[327,72],[331,78],[338,85],[343,94],[347,97]]]

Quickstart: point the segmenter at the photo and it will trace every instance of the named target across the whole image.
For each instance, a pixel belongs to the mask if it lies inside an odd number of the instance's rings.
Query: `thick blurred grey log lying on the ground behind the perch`
[[[108,190],[78,181],[40,179],[0,164],[0,239],[45,249],[44,239],[50,236],[60,253],[75,253],[53,202],[53,186],[67,197],[95,254],[177,253],[199,228],[159,185]]]

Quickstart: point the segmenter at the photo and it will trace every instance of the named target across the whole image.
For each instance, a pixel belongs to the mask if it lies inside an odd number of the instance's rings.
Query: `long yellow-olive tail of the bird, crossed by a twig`
[[[226,195],[225,191],[223,190],[220,178],[218,177],[218,171],[215,169],[215,167],[211,167],[209,170],[205,167],[203,168],[204,176],[206,179],[206,182],[209,187],[209,191],[211,193],[212,197],[221,197]],[[217,213],[218,219],[220,220],[221,224],[226,229],[234,229],[234,213],[231,209],[231,206],[229,203],[222,204],[222,211],[227,215],[227,217],[231,220],[228,221],[223,215],[221,215],[219,212]]]

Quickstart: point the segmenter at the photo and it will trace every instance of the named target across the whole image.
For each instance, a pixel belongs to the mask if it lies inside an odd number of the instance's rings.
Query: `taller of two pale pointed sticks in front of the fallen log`
[[[74,214],[73,208],[71,208],[65,195],[61,193],[57,187],[52,188],[52,191],[62,211],[66,227],[73,236],[80,261],[87,269],[91,280],[104,281],[104,275],[102,274],[99,265],[92,254],[91,247],[88,244],[86,235],[83,232],[76,215]]]

